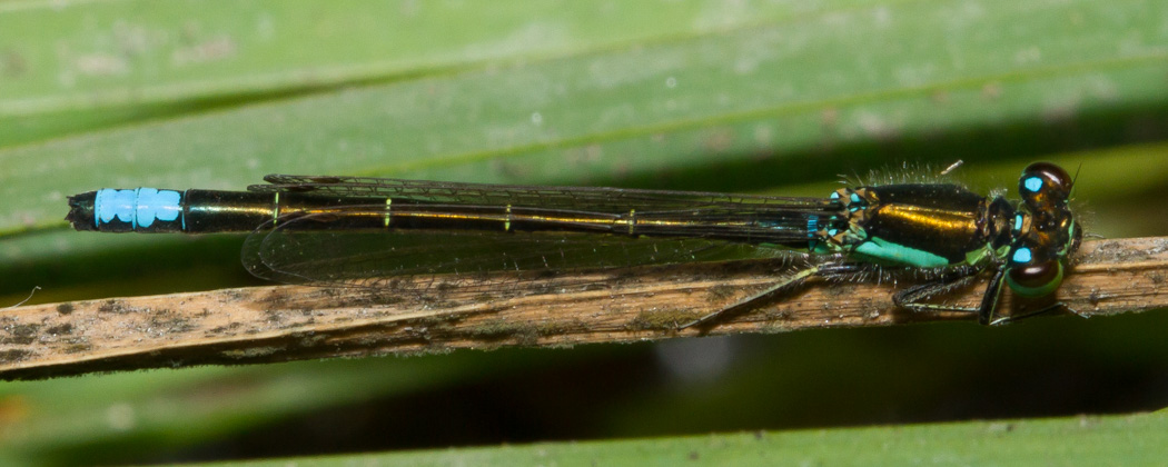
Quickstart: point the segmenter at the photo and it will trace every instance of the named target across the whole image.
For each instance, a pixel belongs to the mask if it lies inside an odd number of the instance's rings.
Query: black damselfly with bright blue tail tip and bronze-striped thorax
[[[898,272],[930,279],[898,291],[897,305],[1001,323],[1011,319],[997,313],[1002,285],[1023,297],[1054,294],[1083,236],[1069,207],[1073,180],[1049,162],[1022,172],[1021,202],[952,183],[860,186],[812,198],[350,176],[264,180],[246,191],[106,188],[71,196],[67,219],[77,230],[103,232],[250,231],[243,262],[257,277],[390,291],[417,287],[401,279],[420,274],[452,274],[443,284],[489,293],[503,284],[488,280],[491,272],[524,280],[728,256],[808,259],[765,291],[683,327],[812,277]],[[926,301],[982,272],[992,278],[976,308]]]

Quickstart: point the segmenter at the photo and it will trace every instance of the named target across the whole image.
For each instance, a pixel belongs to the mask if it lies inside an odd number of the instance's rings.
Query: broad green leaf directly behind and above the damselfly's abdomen
[[[1163,8],[833,9],[14,147],[0,196],[22,201],[0,231],[61,225],[65,195],[103,186],[241,188],[271,172],[586,181],[759,158],[753,172],[781,174],[825,146],[1162,104]],[[840,170],[822,166],[795,175]]]

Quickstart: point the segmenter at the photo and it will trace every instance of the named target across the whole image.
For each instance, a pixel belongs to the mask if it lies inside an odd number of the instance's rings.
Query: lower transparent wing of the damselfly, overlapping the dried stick
[[[573,270],[800,255],[781,248],[691,237],[328,229],[346,216],[376,214],[377,208],[339,208],[292,216],[274,228],[262,226],[244,243],[244,265],[260,278],[290,284],[418,290],[433,284],[409,279],[449,274],[442,285],[487,291]],[[489,274],[503,271],[510,273],[502,281]]]

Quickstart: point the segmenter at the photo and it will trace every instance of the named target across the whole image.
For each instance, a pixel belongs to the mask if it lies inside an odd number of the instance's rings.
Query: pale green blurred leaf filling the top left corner
[[[0,144],[257,97],[627,48],[849,4],[8,2],[0,6]]]

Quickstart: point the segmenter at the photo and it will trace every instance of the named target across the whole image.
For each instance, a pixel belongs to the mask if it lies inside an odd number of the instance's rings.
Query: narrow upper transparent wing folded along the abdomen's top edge
[[[599,187],[540,187],[521,184],[459,183],[368,176],[267,175],[269,184],[250,191],[299,191],[352,197],[395,197],[433,203],[538,205],[603,212],[684,209],[695,205],[759,205],[785,210],[823,211],[834,203],[825,198],[739,195],[707,191],[668,191]]]

